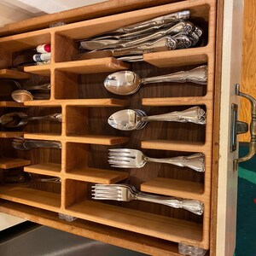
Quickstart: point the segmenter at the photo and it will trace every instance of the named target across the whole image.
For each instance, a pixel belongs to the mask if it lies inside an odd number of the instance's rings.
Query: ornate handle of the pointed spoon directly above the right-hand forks
[[[142,122],[148,121],[175,121],[175,122],[191,122],[199,125],[206,124],[206,113],[200,107],[193,107],[187,110],[172,113],[163,113],[158,115],[145,116],[141,118]]]

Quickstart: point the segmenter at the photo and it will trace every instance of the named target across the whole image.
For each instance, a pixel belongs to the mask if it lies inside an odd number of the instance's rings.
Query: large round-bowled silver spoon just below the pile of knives
[[[135,93],[141,85],[163,82],[207,84],[207,65],[195,67],[189,71],[180,71],[162,76],[141,79],[132,71],[120,71],[108,75],[104,80],[105,88],[117,95]]]

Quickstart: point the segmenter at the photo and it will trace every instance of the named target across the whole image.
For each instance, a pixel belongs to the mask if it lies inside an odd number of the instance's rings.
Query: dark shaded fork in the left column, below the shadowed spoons
[[[30,140],[24,137],[15,137],[12,141],[15,149],[30,150],[32,148],[61,148],[61,143],[56,141]]]

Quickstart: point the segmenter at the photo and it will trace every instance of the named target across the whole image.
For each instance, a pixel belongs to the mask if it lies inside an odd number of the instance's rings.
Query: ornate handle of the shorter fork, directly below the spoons
[[[196,172],[205,172],[205,158],[201,153],[191,154],[189,156],[177,156],[172,158],[151,158],[146,156],[145,160],[155,163],[172,164],[175,166],[189,167]]]

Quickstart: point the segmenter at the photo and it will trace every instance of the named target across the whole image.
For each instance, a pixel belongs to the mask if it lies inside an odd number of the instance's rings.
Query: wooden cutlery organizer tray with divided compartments
[[[201,47],[145,54],[142,63],[134,64],[114,58],[71,59],[77,53],[76,41],[79,39],[182,9],[189,9],[191,20],[206,32]],[[38,44],[52,45],[49,65],[25,67],[25,72],[31,74],[26,83],[35,79],[50,81],[49,101],[26,102],[25,106],[2,102],[2,109],[7,111],[12,107],[20,107],[28,113],[62,113],[61,124],[35,123],[27,125],[25,131],[3,130],[0,134],[3,157],[15,156],[21,159],[20,166],[26,166],[31,161],[30,166],[24,167],[25,172],[61,177],[61,185],[34,184],[31,188],[11,189],[2,186],[0,198],[165,241],[183,241],[208,249],[215,19],[214,0],[191,0],[0,38],[0,48],[9,55],[10,62],[12,52],[32,49]],[[131,69],[146,77],[188,70],[201,64],[208,66],[207,85],[152,84],[144,86],[133,96],[123,97],[113,96],[102,85],[109,73],[118,70]],[[207,110],[207,125],[153,122],[142,131],[124,132],[114,131],[107,124],[111,113],[128,106],[156,114],[195,105]],[[18,152],[10,147],[11,138],[17,134],[24,134],[30,139],[59,141],[62,148]],[[154,163],[148,163],[142,169],[120,172],[120,169],[113,170],[108,165],[108,148],[117,147],[142,148],[145,154],[154,157],[201,152],[205,154],[206,172],[198,173],[188,168]],[[4,158],[2,161],[4,163]],[[15,167],[15,161],[9,168]],[[1,167],[4,168],[3,165]],[[200,200],[204,203],[204,214],[196,216],[181,209],[148,202],[105,203],[90,199],[90,186],[93,183],[120,181],[132,183],[145,192]]]

